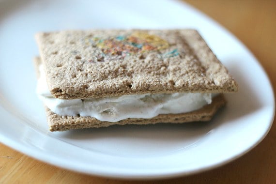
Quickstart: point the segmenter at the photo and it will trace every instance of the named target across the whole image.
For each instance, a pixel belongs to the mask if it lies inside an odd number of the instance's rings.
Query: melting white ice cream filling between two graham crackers
[[[40,66],[37,93],[51,111],[61,116],[89,116],[100,121],[118,122],[127,118],[153,118],[159,114],[194,111],[212,102],[211,93],[135,94],[116,97],[61,100],[48,90]]]

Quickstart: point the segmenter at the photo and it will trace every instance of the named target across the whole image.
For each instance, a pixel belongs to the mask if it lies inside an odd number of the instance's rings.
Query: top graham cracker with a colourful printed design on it
[[[195,30],[59,31],[36,40],[60,99],[238,89]]]

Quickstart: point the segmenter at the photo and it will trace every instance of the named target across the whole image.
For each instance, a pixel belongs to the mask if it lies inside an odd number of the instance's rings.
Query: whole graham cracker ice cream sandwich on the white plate
[[[37,93],[50,131],[209,121],[237,92],[195,30],[36,34]]]

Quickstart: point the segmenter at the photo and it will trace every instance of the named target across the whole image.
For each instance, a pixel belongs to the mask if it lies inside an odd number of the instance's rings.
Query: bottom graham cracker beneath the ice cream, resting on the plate
[[[160,114],[151,119],[129,118],[119,122],[102,122],[92,117],[81,116],[60,116],[46,107],[47,122],[49,130],[65,131],[79,128],[107,127],[115,124],[155,124],[155,123],[187,123],[210,121],[216,111],[226,105],[226,100],[222,94],[213,98],[210,105],[206,105],[199,110],[181,114]]]

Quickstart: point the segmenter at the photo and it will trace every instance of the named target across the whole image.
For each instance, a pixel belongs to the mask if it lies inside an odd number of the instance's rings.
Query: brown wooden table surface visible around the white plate
[[[276,86],[275,0],[187,0],[213,17],[247,46]],[[2,183],[93,183],[119,184],[141,181],[114,180],[60,169],[0,144]],[[242,183],[276,184],[276,124],[264,140],[241,158],[203,173],[143,183]]]

